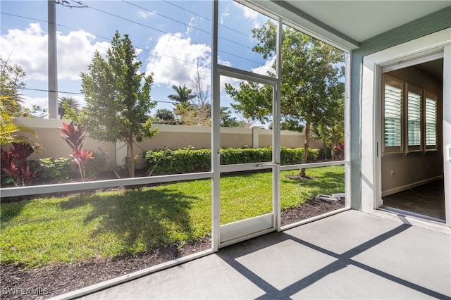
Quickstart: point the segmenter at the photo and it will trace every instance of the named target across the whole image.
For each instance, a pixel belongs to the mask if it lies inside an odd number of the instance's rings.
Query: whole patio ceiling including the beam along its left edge
[[[451,1],[253,1],[350,49],[451,6]]]

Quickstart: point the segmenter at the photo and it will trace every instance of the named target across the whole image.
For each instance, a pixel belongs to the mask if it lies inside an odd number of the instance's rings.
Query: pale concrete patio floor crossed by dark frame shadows
[[[359,211],[82,299],[451,299],[451,236]]]

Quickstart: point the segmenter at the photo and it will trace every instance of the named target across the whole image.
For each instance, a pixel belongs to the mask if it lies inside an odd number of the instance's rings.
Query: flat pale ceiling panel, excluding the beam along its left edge
[[[451,1],[287,1],[357,42],[435,11]]]

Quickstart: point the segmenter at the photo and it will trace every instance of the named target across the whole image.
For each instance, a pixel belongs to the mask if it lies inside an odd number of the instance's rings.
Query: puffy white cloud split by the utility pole
[[[83,30],[68,35],[57,33],[58,79],[80,80],[80,72],[87,71],[94,50],[106,53],[108,42],[95,42],[94,35]],[[8,30],[0,37],[1,56],[20,65],[27,78],[47,80],[48,36],[38,23],[31,23],[25,30]]]

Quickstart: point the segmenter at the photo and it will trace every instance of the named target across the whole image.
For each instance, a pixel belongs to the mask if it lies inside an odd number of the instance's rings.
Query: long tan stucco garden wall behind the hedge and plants
[[[62,123],[70,123],[70,120],[58,119],[38,119],[38,118],[17,118],[16,123],[27,125],[37,134],[34,137],[30,134],[24,134],[30,141],[42,144],[39,154],[32,154],[30,159],[39,158],[60,158],[68,157],[71,154],[70,147],[61,138],[59,130]],[[155,124],[153,127],[158,128],[159,134],[152,139],[144,139],[143,142],[137,143],[135,147],[137,158],[137,168],[144,166],[143,151],[154,149],[183,149],[192,147],[194,149],[209,149],[211,146],[211,127],[202,126],[184,126],[184,125],[163,125]],[[272,130],[265,130],[259,127],[254,128],[221,128],[221,147],[240,148],[242,146],[266,147],[272,144]],[[304,134],[301,132],[292,132],[282,130],[281,145],[288,148],[304,147]],[[311,148],[323,148],[323,143],[319,140],[311,140]],[[89,137],[83,142],[83,148],[94,151],[99,154],[104,152],[106,158],[111,163],[122,165],[125,156],[127,156],[127,148],[121,142],[109,143],[99,142]]]

